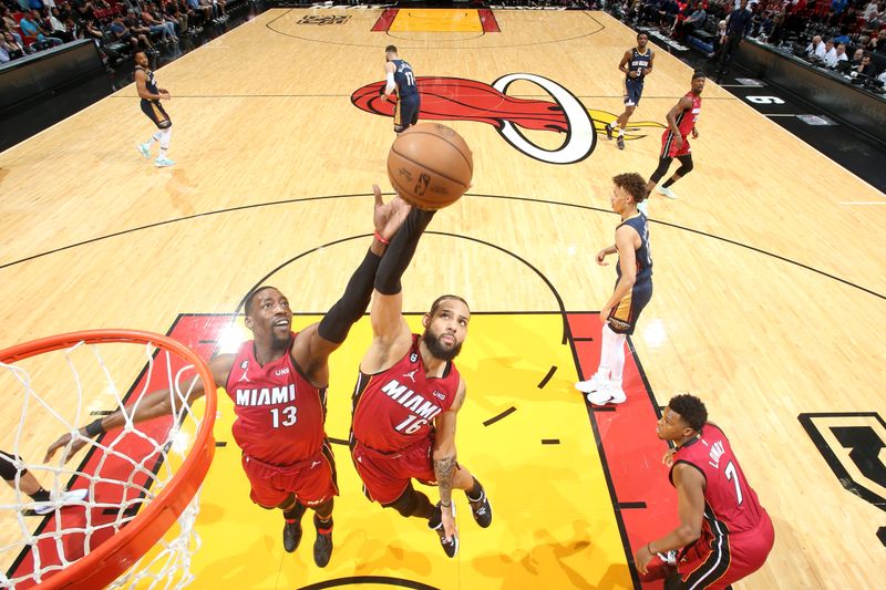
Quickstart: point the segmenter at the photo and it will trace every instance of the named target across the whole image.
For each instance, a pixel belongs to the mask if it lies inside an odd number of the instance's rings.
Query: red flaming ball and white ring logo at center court
[[[515,99],[507,89],[518,81],[542,87],[553,101]],[[605,111],[588,111],[581,101],[562,84],[547,77],[517,73],[507,74],[492,85],[464,77],[419,76],[415,85],[421,95],[419,120],[476,121],[495,131],[521,153],[548,164],[575,164],[588,157],[597,146],[597,132],[615,121]],[[360,110],[382,116],[393,116],[394,103],[384,101],[384,81],[373,82],[351,94]],[[643,127],[663,128],[660,123],[631,123],[626,139],[645,137]],[[566,134],[556,149],[544,148],[521,132],[523,130]]]

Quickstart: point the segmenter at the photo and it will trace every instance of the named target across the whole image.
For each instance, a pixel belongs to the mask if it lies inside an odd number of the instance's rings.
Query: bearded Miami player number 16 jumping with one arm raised
[[[422,319],[421,335],[412,333],[402,313],[400,278],[432,216],[413,209],[379,266],[373,339],[360,363],[350,443],[367,497],[404,517],[427,520],[446,555],[455,557],[452,490],[465,491],[483,528],[492,524],[492,507],[480,482],[455,460],[455,424],[466,387],[453,360],[467,335],[467,303],[457,296],[439,298]],[[436,506],[412,479],[437,486]]]

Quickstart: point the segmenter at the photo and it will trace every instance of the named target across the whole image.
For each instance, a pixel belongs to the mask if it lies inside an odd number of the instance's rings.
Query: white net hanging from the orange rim
[[[182,479],[176,474],[203,423],[186,403],[200,383],[199,376],[192,379],[197,374],[193,362],[151,342],[80,342],[0,362],[7,406],[7,417],[0,418],[0,468],[4,479],[11,475],[8,485],[0,484],[0,587],[30,588],[52,579],[105,544],[117,542],[127,527],[140,529],[140,515]],[[134,411],[158,390],[167,390],[172,413],[134,424]],[[125,417],[122,428],[95,439],[80,434],[80,427],[116,410]],[[72,442],[43,464],[49,445],[64,434]],[[78,441],[85,446],[73,452]],[[181,508],[187,500],[175,501]],[[168,531],[145,546],[147,552],[111,587],[187,586],[190,556],[200,545],[194,531],[198,510],[195,494]],[[105,568],[107,561],[94,567]]]

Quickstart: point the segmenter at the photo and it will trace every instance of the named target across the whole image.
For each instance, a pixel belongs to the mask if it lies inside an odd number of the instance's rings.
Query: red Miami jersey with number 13
[[[255,341],[240,344],[225,384],[237,420],[231,432],[243,451],[262,463],[292,465],[323,446],[326,390],[301,374],[292,360],[290,333],[286,354],[261,366]]]

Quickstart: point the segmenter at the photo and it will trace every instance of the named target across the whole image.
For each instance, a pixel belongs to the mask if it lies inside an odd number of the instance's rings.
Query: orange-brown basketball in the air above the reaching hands
[[[471,186],[474,158],[454,130],[419,123],[401,133],[388,153],[388,178],[396,193],[420,209],[452,205]]]

